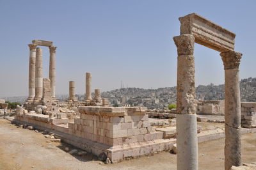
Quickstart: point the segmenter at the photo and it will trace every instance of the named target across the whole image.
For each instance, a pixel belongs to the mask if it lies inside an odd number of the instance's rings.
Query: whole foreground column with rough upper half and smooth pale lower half
[[[173,37],[178,52],[177,66],[177,169],[198,169],[195,104],[195,57],[193,35]]]

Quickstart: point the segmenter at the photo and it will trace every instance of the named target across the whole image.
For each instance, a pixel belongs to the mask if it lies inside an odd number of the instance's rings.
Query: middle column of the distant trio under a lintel
[[[43,95],[43,60],[42,49],[36,47],[36,79],[35,79],[35,100],[41,100]]]

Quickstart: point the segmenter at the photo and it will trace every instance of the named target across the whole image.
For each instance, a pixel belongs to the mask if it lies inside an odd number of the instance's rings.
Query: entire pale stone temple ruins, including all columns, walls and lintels
[[[100,89],[95,89],[92,96],[89,72],[85,74],[83,101],[77,100],[75,82],[69,81],[69,97],[60,102],[55,97],[56,47],[52,42],[33,40],[29,44],[29,97],[25,107],[17,107],[14,121],[52,132],[65,143],[111,162],[173,150],[177,152],[179,170],[198,169],[198,143],[225,136],[225,169],[241,166],[241,123],[250,128],[248,132],[256,132],[252,129],[256,127],[256,105],[240,102],[242,54],[234,52],[236,35],[196,13],[179,20],[180,35],[173,37],[178,54],[177,109],[146,112],[147,107],[109,107],[108,99],[100,96]],[[195,100],[195,42],[221,52],[225,102]],[[42,50],[37,45],[50,49],[49,78],[42,77]],[[225,114],[225,133],[223,129],[201,133],[196,112]],[[156,127],[148,116],[177,118],[176,127],[165,128],[159,123]]]

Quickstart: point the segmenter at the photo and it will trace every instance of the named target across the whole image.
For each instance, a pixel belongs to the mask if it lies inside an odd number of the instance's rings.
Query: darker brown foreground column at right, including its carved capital
[[[225,169],[241,166],[241,101],[239,64],[242,54],[222,52],[225,69]]]

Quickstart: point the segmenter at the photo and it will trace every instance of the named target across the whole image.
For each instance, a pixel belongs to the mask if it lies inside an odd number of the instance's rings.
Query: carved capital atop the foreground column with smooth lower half
[[[194,54],[195,37],[193,35],[174,36],[173,40],[177,46],[178,56]]]

